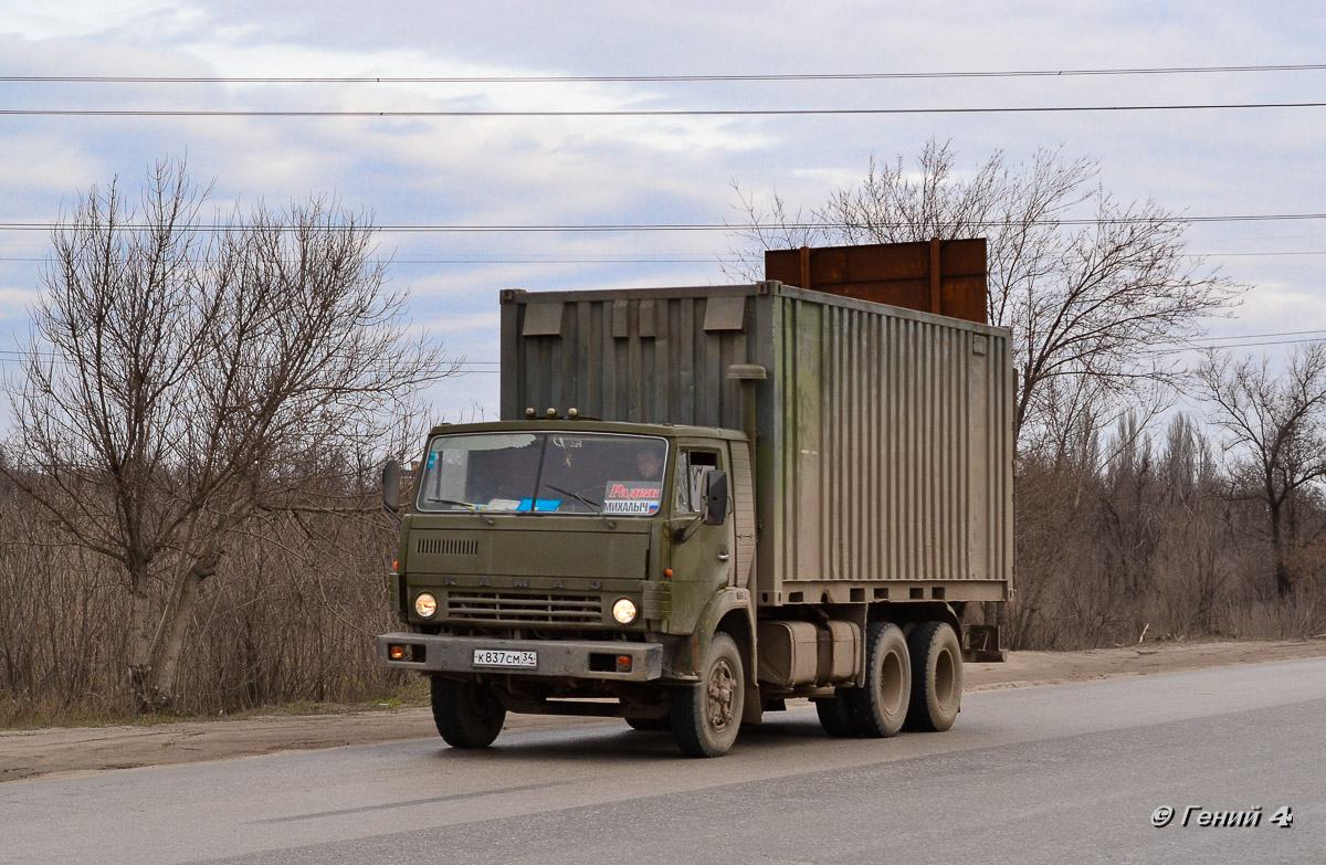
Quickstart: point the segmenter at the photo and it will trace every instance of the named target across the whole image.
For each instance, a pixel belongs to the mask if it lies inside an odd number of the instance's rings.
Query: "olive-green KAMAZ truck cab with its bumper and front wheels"
[[[481,747],[507,710],[676,726],[674,691],[701,685],[731,629],[747,657],[723,706],[701,708],[719,718],[697,735],[716,742],[692,748],[725,750],[753,670],[749,443],[529,414],[431,432],[391,577],[403,629],[378,637],[379,659],[430,674],[442,735]]]

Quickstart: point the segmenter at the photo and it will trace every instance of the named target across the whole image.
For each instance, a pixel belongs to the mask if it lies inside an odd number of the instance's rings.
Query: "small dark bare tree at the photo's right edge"
[[[1231,496],[1266,508],[1276,593],[1285,597],[1296,584],[1289,565],[1299,540],[1296,505],[1326,478],[1326,342],[1297,349],[1284,374],[1266,358],[1209,352],[1193,378],[1212,403],[1211,422],[1237,454]]]

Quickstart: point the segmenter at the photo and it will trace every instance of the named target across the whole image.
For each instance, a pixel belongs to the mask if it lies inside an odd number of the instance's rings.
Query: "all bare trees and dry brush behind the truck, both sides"
[[[1014,649],[1326,632],[1326,348],[1282,367],[1172,350],[1244,289],[1184,224],[1041,151],[957,178],[873,165],[810,216],[749,199],[764,248],[988,236],[1018,382]],[[5,382],[0,724],[391,703],[378,467],[456,370],[406,326],[371,223],[310,200],[203,216],[162,163],[53,237]],[[1086,208],[1094,222],[1067,222]],[[223,231],[208,227],[220,224]],[[794,228],[792,228],[794,227]],[[1175,413],[1179,393],[1189,398]]]

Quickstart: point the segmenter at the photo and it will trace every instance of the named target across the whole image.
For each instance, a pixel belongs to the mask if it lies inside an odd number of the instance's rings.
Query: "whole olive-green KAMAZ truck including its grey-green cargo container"
[[[1012,393],[1004,329],[778,281],[503,292],[503,419],[431,431],[378,657],[461,748],[542,712],[717,756],[790,698],[947,730],[1000,653]]]

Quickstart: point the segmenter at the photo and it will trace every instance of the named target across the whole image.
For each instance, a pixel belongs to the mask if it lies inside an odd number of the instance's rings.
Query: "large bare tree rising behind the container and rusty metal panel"
[[[1062,423],[1065,409],[1099,414],[1102,399],[1122,405],[1120,395],[1130,407],[1154,406],[1162,395],[1155,383],[1174,371],[1155,349],[1203,333],[1201,320],[1242,291],[1187,255],[1187,224],[1175,214],[1151,200],[1120,204],[1103,191],[1093,159],[1040,149],[1014,166],[994,153],[965,178],[955,162],[949,145],[935,139],[915,171],[902,157],[871,158],[859,186],[833,194],[809,218],[789,218],[777,195],[761,207],[739,190],[745,219],[735,232],[748,245],[736,271],[757,272],[756,253],[772,248],[985,236],[989,321],[1012,328],[1024,373],[1020,440],[1024,430],[1041,436],[1046,425]],[[1065,403],[1065,394],[1090,399]]]

